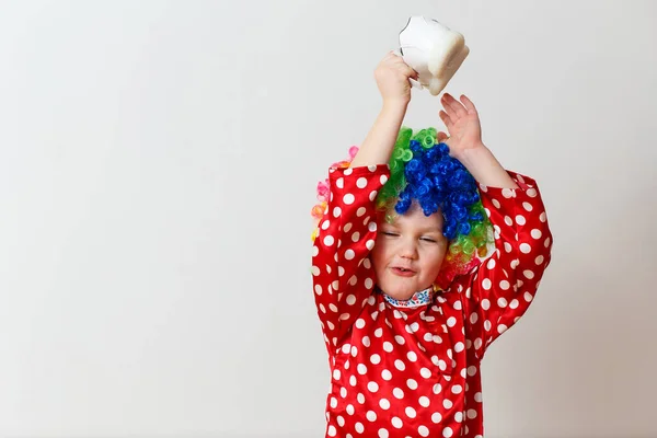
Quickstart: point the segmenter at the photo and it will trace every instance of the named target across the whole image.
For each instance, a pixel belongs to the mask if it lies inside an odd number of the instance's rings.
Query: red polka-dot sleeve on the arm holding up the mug
[[[328,170],[330,197],[312,256],[314,300],[331,354],[374,287],[368,257],[377,238],[376,198],[388,164]]]

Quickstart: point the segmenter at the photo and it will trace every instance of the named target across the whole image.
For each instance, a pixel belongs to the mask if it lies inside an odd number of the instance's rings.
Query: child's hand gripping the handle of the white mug
[[[377,87],[383,97],[383,103],[408,104],[411,102],[411,82],[408,78],[417,79],[413,70],[401,56],[388,53],[374,70]]]

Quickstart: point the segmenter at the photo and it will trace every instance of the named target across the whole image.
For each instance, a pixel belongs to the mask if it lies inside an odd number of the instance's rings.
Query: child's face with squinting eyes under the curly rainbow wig
[[[440,211],[427,217],[413,204],[406,214],[396,215],[392,223],[380,214],[371,254],[377,284],[397,300],[413,297],[434,284],[447,246]]]

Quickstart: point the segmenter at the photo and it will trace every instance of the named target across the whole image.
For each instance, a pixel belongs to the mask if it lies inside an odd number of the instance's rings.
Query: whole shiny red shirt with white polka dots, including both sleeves
[[[374,287],[374,199],[387,164],[330,169],[314,241],[314,298],[331,366],[326,437],[482,437],[480,362],[527,311],[550,263],[552,235],[532,178],[479,184],[495,250],[418,307]]]

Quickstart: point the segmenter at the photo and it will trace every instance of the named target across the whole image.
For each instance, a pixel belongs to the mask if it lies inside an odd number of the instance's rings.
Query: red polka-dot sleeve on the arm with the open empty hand
[[[456,285],[463,303],[466,347],[474,348],[480,359],[525,314],[551,261],[552,233],[537,183],[508,174],[519,188],[479,184],[495,250]]]

